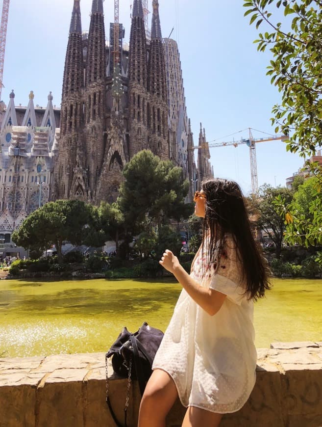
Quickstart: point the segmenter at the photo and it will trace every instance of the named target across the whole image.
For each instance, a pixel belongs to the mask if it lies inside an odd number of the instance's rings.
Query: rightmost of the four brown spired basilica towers
[[[159,17],[159,2],[153,0],[151,23],[151,43],[148,67],[149,105],[149,145],[153,154],[162,160],[170,157],[168,135],[168,99],[166,67],[162,46],[162,34]]]

